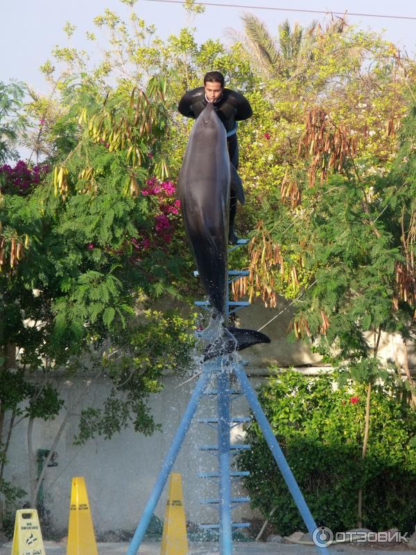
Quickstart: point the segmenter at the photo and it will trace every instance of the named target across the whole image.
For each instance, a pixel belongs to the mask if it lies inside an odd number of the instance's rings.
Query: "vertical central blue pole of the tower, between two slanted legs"
[[[231,480],[229,477],[230,384],[229,371],[223,368],[217,376],[218,388],[218,481],[220,521],[220,554],[232,555]]]

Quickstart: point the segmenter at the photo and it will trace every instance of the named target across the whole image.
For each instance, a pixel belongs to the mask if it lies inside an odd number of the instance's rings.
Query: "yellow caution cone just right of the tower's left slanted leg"
[[[188,555],[187,521],[182,495],[182,478],[172,473],[163,527],[160,555]]]

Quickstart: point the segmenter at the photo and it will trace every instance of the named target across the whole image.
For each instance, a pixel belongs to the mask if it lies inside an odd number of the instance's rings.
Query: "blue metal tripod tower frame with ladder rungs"
[[[243,246],[247,243],[247,239],[239,239],[237,245],[229,248],[229,251],[232,251],[235,248],[239,248],[240,246]],[[198,275],[198,272],[195,272],[194,275]],[[229,271],[229,284],[231,284],[234,280],[240,278],[242,275],[248,275],[248,272]],[[200,307],[209,308],[208,303],[205,301],[196,302],[195,304]],[[227,319],[229,314],[232,314],[233,312],[243,307],[247,307],[248,305],[250,305],[250,303],[245,301],[230,301],[228,292],[226,314]],[[317,526],[315,524],[315,520],[313,520],[311,511],[309,511],[309,507],[307,506],[302,492],[297,485],[291,468],[288,466],[281,447],[277,442],[277,439],[275,438],[275,434],[273,434],[272,432],[270,424],[268,423],[266,415],[264,414],[259,400],[257,399],[257,395],[252,388],[247,375],[245,374],[245,370],[243,369],[242,364],[231,365],[229,363],[230,359],[227,356],[217,357],[216,359],[205,362],[202,374],[200,375],[196,387],[193,390],[187,409],[185,410],[184,416],[182,417],[182,421],[180,422],[177,432],[173,437],[171,447],[168,450],[168,454],[166,454],[166,458],[164,460],[164,463],[162,464],[162,468],[159,471],[155,486],[153,487],[152,493],[150,493],[150,497],[145,506],[144,512],[141,515],[141,520],[139,521],[139,524],[135,531],[135,535],[133,536],[132,541],[129,545],[127,552],[128,555],[136,555],[139,550],[139,547],[144,539],[144,535],[148,528],[148,524],[150,523],[150,519],[152,518],[157,502],[159,501],[159,497],[160,495],[162,495],[164,485],[166,484],[168,476],[171,473],[173,464],[175,463],[177,454],[180,451],[180,447],[182,446],[184,438],[191,425],[193,416],[198,409],[198,403],[202,398],[202,395],[216,395],[217,398],[218,415],[215,418],[204,418],[198,421],[204,424],[214,425],[218,433],[217,445],[202,445],[200,447],[200,449],[203,451],[217,454],[218,472],[203,472],[200,476],[218,480],[218,499],[205,499],[203,502],[205,502],[206,504],[213,504],[214,506],[218,505],[219,523],[202,524],[201,527],[202,529],[211,529],[218,531],[220,540],[220,555],[232,555],[233,530],[247,527],[249,525],[248,523],[237,523],[232,521],[232,509],[234,509],[234,506],[241,502],[247,502],[250,500],[248,497],[232,497],[232,481],[234,479],[238,479],[239,477],[247,476],[249,472],[232,471],[230,466],[231,457],[233,454],[239,452],[240,450],[250,449],[250,445],[235,445],[232,444],[230,441],[231,429],[241,422],[250,420],[250,418],[245,417],[232,418],[232,400],[233,398],[235,398],[236,394],[245,395],[245,398],[248,400],[250,409],[252,410],[252,413],[254,414],[257,423],[259,424],[261,432],[263,433],[263,436],[266,439],[266,442],[270,449],[270,452],[272,452],[272,455],[277,462],[277,466],[279,466],[281,475],[286,481],[286,485],[291,492],[297,509],[302,515],[306,528],[308,529],[312,537],[316,536]],[[232,373],[234,373],[237,381],[239,382],[241,391],[235,391],[234,389],[232,389]],[[216,378],[216,389],[208,390],[207,384],[213,377]],[[313,534],[314,532],[315,534]],[[316,549],[318,550],[318,553],[320,555],[327,554],[327,547],[324,545],[324,543],[322,547],[317,546]]]

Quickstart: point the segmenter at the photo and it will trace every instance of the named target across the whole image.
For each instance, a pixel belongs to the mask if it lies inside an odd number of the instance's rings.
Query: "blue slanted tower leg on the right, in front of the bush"
[[[250,404],[250,408],[252,409],[254,416],[256,417],[256,420],[260,426],[261,432],[263,432],[263,436],[267,441],[269,449],[272,452],[272,455],[275,457],[275,461],[279,466],[281,475],[284,477],[284,480],[286,481],[289,491],[291,492],[291,495],[293,497],[293,501],[295,502],[297,509],[299,509],[299,512],[302,515],[304,523],[306,524],[306,528],[308,529],[309,533],[313,537],[313,532],[317,528],[315,524],[315,520],[313,520],[311,511],[309,511],[309,507],[307,506],[306,501],[304,500],[304,497],[302,495],[302,492],[300,491],[299,486],[297,485],[297,481],[295,480],[295,477],[293,476],[293,472],[290,466],[288,465],[288,462],[285,459],[283,451],[281,450],[280,445],[277,442],[277,439],[275,438],[275,434],[273,434],[272,432],[270,424],[267,421],[266,415],[264,414],[263,409],[261,408],[261,404],[257,399],[257,395],[254,389],[252,388],[248,380],[248,377],[245,375],[244,370],[240,368],[238,364],[236,364],[234,368],[234,373],[239,379],[241,387],[243,388],[243,391],[245,393],[245,397],[247,398],[248,403]],[[317,547],[317,549],[318,549],[318,553],[320,553],[321,555],[328,553],[326,547]]]

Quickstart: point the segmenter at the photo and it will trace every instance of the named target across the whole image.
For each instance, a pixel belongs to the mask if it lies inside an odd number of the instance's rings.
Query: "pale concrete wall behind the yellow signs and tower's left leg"
[[[77,432],[78,419],[71,418],[56,447],[58,466],[48,468],[44,479],[45,506],[51,511],[54,527],[62,530],[67,527],[71,479],[83,476],[96,531],[135,529],[195,386],[195,379],[182,386],[185,379],[187,378],[166,377],[163,391],[151,398],[150,408],[155,421],[162,423],[163,427],[162,432],[155,432],[153,436],[145,437],[128,429],[115,435],[110,441],[96,438],[77,447],[73,445],[73,436]],[[258,382],[259,379],[256,379],[254,385]],[[105,398],[107,387],[108,384],[103,379],[94,384],[78,379],[64,382],[62,391],[67,406],[76,402],[78,395],[84,391],[87,394],[83,406],[99,406]],[[234,416],[244,416],[247,413],[245,402],[242,401],[234,401]],[[51,422],[36,422],[33,430],[35,450],[51,447],[63,416],[62,411],[62,416]],[[208,416],[215,416],[215,405],[205,398],[195,418]],[[28,490],[26,436],[27,422],[24,420],[12,435],[6,479],[13,479],[16,484]],[[239,429],[233,432],[233,436],[234,441],[241,443]],[[216,443],[214,429],[194,422],[173,468],[173,471],[182,473],[187,520],[199,523],[218,522],[214,509],[199,504],[201,497],[217,496],[214,484],[198,477],[199,472],[214,470],[216,467],[215,456],[198,451],[198,445],[209,443]],[[166,492],[155,511],[161,519],[164,518],[165,505]],[[251,513],[248,505],[245,505],[240,511],[234,511],[234,514],[248,518]]]

